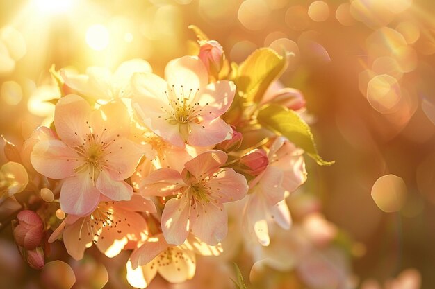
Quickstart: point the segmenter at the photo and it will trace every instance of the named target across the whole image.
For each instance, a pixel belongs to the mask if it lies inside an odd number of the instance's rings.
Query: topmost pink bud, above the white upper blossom
[[[199,46],[199,59],[202,60],[208,73],[217,76],[224,65],[224,49],[215,40],[202,42]]]

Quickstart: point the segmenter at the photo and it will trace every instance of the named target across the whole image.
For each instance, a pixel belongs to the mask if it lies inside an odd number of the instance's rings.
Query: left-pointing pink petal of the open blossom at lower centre
[[[155,170],[140,183],[139,191],[145,196],[159,195],[165,197],[173,195],[181,187],[185,186],[181,175],[177,170],[161,168]]]

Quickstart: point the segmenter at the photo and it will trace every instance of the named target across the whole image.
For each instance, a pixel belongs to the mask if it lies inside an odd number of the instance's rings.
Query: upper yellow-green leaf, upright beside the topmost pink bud
[[[236,85],[247,102],[259,103],[270,84],[287,67],[285,56],[269,48],[257,49],[240,64]]]

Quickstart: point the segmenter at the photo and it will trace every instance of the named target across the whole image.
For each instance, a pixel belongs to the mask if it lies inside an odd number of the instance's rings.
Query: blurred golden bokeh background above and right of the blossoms
[[[320,155],[336,161],[307,160],[304,191],[356,243],[354,274],[416,268],[435,288],[434,15],[433,0],[0,0],[0,133],[22,143],[51,114],[52,64],[143,58],[162,73],[188,53],[189,24],[233,62],[284,47],[281,82],[302,91]]]

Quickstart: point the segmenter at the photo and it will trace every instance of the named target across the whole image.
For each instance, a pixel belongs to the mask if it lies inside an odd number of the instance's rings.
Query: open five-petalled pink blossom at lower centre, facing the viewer
[[[211,150],[186,162],[181,174],[161,168],[144,179],[140,188],[144,195],[177,194],[166,202],[162,213],[167,243],[182,244],[189,231],[208,245],[216,245],[227,235],[223,203],[242,199],[247,182],[232,168],[220,168],[226,161],[227,154]]]

